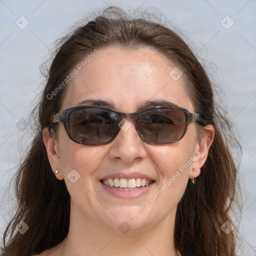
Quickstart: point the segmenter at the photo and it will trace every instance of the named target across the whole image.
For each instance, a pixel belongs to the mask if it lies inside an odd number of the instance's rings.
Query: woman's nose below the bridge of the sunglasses
[[[138,135],[134,123],[123,119],[120,131],[111,142],[109,156],[123,163],[140,161],[146,157],[145,144]]]

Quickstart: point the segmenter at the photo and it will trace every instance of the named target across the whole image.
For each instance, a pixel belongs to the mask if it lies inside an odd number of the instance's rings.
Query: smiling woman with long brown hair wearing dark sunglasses
[[[235,139],[212,90],[176,33],[118,8],[63,38],[1,255],[235,255]]]

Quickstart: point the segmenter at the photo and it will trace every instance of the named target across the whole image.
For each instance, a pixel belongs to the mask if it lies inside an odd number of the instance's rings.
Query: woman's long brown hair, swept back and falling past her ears
[[[110,13],[110,14],[109,14]],[[236,234],[221,230],[237,203],[237,167],[232,148],[238,143],[230,122],[213,99],[212,84],[187,44],[166,26],[146,18],[128,18],[121,9],[109,7],[71,34],[61,38],[46,76],[38,106],[33,110],[38,126],[27,155],[15,177],[17,209],[3,234],[2,256],[37,254],[60,243],[69,228],[70,197],[64,180],[53,174],[42,130],[55,129],[52,113],[62,102],[62,88],[54,97],[52,91],[84,57],[106,46],[139,48],[148,46],[174,63],[186,79],[187,90],[195,112],[202,122],[198,130],[212,124],[215,129],[208,157],[195,185],[188,182],[178,203],[174,245],[182,256],[234,256]],[[239,144],[238,144],[239,145]],[[23,220],[29,229],[24,234],[15,231]]]

